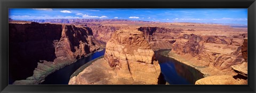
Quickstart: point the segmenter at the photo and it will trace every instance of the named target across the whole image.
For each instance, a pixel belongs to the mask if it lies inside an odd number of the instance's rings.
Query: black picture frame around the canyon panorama
[[[255,92],[255,0],[1,0],[2,92]],[[248,85],[8,85],[8,8],[248,8]]]

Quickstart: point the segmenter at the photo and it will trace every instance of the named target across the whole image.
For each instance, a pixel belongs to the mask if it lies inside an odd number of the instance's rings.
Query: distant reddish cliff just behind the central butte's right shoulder
[[[154,51],[171,49],[175,39],[183,31],[183,29],[168,29],[165,27],[140,27],[138,30],[144,33],[146,40]]]

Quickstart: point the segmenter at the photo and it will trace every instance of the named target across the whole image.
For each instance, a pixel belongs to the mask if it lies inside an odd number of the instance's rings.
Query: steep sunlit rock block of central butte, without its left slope
[[[161,69],[143,32],[117,31],[107,42],[104,58],[121,77],[145,84],[158,82]]]

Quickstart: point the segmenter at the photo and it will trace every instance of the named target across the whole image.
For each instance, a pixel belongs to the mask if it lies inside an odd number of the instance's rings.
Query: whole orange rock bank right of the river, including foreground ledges
[[[205,28],[211,30],[211,27]],[[182,31],[172,44],[169,57],[201,71],[206,78],[198,80],[196,84],[246,85],[247,32],[223,31],[226,29],[216,29],[218,33],[198,29]],[[228,78],[224,78],[226,76],[232,79],[228,81]]]

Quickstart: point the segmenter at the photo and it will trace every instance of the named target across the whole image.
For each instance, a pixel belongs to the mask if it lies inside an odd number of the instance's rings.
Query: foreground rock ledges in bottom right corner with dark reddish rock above
[[[236,52],[235,55],[239,54],[239,57],[238,57],[239,59],[244,58],[244,60],[242,60],[243,62],[242,64],[236,64],[231,66],[231,69],[234,72],[236,72],[237,75],[233,75],[233,76],[221,75],[221,76],[206,77],[206,78],[197,80],[195,84],[196,85],[247,85],[248,83],[247,82],[247,38],[244,38],[242,48],[238,47],[238,50],[235,52]]]

